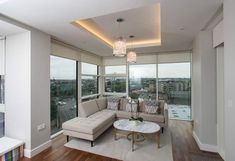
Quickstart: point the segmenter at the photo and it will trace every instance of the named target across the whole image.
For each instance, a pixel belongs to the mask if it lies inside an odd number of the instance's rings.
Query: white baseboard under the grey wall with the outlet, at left
[[[49,148],[51,146],[51,140],[39,145],[38,147],[30,150],[30,149],[24,149],[24,156],[27,158],[32,158],[33,156],[39,154],[43,150]]]

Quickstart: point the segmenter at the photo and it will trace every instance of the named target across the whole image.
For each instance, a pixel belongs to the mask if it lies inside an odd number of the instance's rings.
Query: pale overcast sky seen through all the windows
[[[83,63],[82,72],[96,73],[96,65]],[[106,73],[113,69],[125,72],[125,66],[106,67]],[[130,78],[156,78],[156,64],[130,65]],[[190,78],[190,63],[169,63],[158,65],[159,78]],[[51,79],[76,79],[76,61],[56,56],[51,56]]]

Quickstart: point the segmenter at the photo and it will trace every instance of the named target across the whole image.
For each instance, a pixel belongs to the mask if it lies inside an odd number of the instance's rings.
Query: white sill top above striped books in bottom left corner
[[[8,137],[0,138],[0,156],[4,155],[5,153],[12,151],[13,149],[23,145],[24,142],[16,139],[11,139]]]

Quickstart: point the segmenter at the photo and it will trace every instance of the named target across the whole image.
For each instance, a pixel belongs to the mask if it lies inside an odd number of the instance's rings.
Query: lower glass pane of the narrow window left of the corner
[[[97,76],[82,76],[82,96],[98,93]]]

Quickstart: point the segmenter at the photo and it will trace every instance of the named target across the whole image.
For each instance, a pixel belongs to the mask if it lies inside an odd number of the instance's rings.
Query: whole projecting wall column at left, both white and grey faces
[[[0,15],[24,33],[6,39],[6,136],[25,142],[32,157],[51,145],[50,36]],[[45,129],[38,131],[38,125]]]

